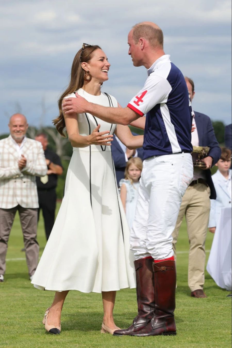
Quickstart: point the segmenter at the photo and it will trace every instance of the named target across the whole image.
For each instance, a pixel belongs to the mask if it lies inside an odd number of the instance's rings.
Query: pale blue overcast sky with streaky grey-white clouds
[[[51,126],[82,43],[97,44],[111,68],[102,90],[126,106],[144,84],[146,69],[128,56],[127,34],[157,23],[164,50],[195,83],[193,109],[231,123],[231,1],[8,0],[0,1],[0,134],[21,111],[29,125]]]

